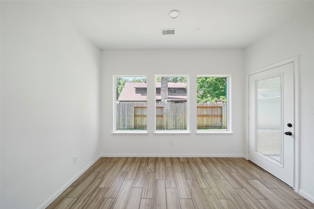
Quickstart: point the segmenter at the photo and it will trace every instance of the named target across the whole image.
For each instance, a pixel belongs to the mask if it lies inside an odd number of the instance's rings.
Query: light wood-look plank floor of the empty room
[[[47,209],[314,209],[243,158],[100,158]]]

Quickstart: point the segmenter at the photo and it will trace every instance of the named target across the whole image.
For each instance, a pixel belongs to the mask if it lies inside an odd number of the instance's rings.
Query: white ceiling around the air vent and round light
[[[245,48],[300,15],[314,1],[56,0],[49,1],[102,49]],[[179,10],[171,19],[168,13]],[[161,35],[162,28],[177,28]]]

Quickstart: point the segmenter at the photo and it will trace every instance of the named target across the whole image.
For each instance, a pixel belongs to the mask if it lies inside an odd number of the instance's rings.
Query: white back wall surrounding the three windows
[[[188,74],[190,135],[153,135],[154,75]],[[195,135],[196,75],[230,74],[232,135]],[[147,75],[148,135],[112,135],[113,75]],[[103,50],[101,72],[102,154],[104,156],[233,156],[243,157],[245,76],[243,50]],[[173,146],[169,146],[169,140]]]

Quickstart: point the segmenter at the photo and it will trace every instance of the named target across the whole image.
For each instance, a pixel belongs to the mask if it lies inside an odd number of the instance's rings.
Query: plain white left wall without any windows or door
[[[100,56],[46,2],[1,1],[2,209],[40,207],[99,157]]]

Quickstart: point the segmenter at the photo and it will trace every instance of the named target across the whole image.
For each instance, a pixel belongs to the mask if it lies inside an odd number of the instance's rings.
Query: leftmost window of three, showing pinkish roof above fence
[[[147,130],[147,77],[113,76],[114,132]]]

